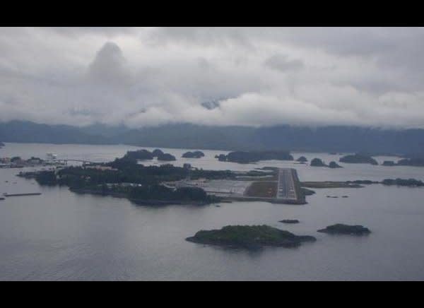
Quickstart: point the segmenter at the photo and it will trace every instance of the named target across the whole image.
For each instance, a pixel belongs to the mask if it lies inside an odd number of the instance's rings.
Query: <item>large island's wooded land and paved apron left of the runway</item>
[[[243,194],[243,187],[248,187],[255,182],[271,183],[276,187],[278,170],[232,172],[203,170],[187,165],[184,167],[175,167],[171,164],[145,166],[139,162],[139,158],[149,158],[151,155],[153,154],[146,150],[128,151],[122,158],[116,158],[112,162],[84,163],[82,166],[20,172],[17,175],[26,179],[35,179],[40,185],[68,186],[71,191],[78,194],[126,198],[136,204],[202,205],[235,199],[284,201],[276,199],[276,189],[274,189],[275,194],[269,198],[261,198],[259,193],[250,196]],[[220,184],[218,182],[220,180],[225,181]],[[239,186],[242,189],[234,194],[233,189]],[[298,194],[298,198],[302,199],[302,197],[302,194]]]

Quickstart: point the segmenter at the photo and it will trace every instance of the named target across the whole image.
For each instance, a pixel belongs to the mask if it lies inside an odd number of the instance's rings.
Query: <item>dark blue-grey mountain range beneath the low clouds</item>
[[[4,142],[117,144],[155,148],[298,150],[317,152],[424,153],[424,129],[358,126],[243,127],[168,124],[142,129],[94,124],[83,128],[12,121],[0,123]]]

